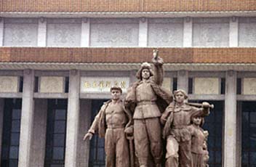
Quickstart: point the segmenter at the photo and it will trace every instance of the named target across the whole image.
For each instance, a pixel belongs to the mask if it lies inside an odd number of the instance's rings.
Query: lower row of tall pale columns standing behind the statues
[[[44,166],[47,99],[33,98],[33,70],[24,70],[23,78],[19,167]],[[83,142],[82,138],[90,126],[91,102],[88,99],[79,99],[79,71],[71,70],[69,78],[65,167],[87,167],[89,162],[89,142]],[[227,71],[225,79],[223,165],[224,167],[233,167],[238,164],[236,158],[236,71]],[[136,80],[134,70],[130,72],[130,80]],[[180,70],[177,72],[177,89],[188,91],[188,71]],[[4,105],[3,102],[4,100],[1,99],[1,106]],[[1,124],[3,123],[3,113],[3,107],[0,107]],[[2,128],[0,128],[0,133],[1,131]]]

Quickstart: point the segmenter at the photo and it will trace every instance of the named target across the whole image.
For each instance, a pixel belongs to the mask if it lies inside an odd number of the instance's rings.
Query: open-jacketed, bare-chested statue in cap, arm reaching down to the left
[[[105,137],[106,167],[129,167],[129,147],[124,134],[129,115],[125,113],[121,94],[120,87],[111,87],[112,99],[100,108],[92,126],[84,135],[84,140],[92,139],[97,131],[100,137]]]

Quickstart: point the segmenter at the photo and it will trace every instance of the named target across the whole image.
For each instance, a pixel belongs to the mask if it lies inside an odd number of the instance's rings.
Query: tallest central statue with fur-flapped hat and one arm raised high
[[[140,167],[148,167],[150,157],[156,167],[161,166],[161,112],[172,102],[170,91],[161,88],[164,70],[158,51],[153,51],[153,65],[143,62],[137,71],[138,81],[127,91],[125,107],[131,111],[134,122],[135,155]]]

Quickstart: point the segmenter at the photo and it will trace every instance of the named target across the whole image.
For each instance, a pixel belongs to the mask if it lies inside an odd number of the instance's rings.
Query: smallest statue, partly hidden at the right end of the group
[[[204,131],[201,126],[204,125],[204,118],[193,115],[192,125],[188,126],[191,131],[191,153],[193,158],[193,167],[206,167],[209,159],[207,150],[208,131]]]

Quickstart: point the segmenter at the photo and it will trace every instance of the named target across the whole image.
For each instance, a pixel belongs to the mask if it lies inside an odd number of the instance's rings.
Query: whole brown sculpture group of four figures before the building
[[[143,62],[138,81],[127,90],[111,87],[112,99],[105,102],[84,140],[96,132],[105,137],[107,167],[206,167],[208,132],[201,126],[209,115],[208,102],[188,103],[182,89],[161,87],[164,61],[153,51],[153,69]]]

